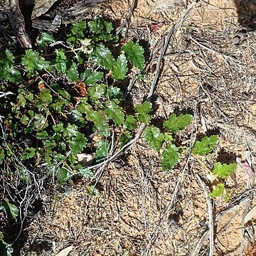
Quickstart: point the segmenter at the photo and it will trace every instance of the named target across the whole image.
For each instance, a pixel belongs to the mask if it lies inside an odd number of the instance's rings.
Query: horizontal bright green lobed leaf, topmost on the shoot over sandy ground
[[[168,129],[171,132],[178,132],[187,127],[188,124],[190,124],[191,120],[191,114],[181,114],[178,117],[176,116],[176,114],[171,114],[169,119],[164,121],[164,128]]]

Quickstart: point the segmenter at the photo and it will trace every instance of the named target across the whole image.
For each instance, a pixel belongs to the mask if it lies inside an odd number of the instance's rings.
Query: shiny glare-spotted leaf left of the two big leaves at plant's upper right
[[[112,56],[110,49],[105,47],[102,43],[95,47],[91,58],[97,65],[101,65],[108,70],[112,70],[114,57]]]

